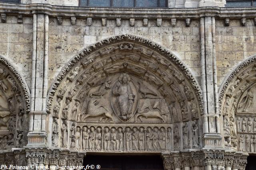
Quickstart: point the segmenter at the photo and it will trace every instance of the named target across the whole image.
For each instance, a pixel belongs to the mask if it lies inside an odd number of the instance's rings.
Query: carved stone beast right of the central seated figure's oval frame
[[[142,107],[140,108],[140,110],[138,110],[138,113],[135,115],[135,122],[137,122],[137,118],[140,119],[140,121],[142,122],[142,119],[140,117],[146,117],[146,119],[148,117],[158,117],[160,118],[163,122],[166,122],[166,120],[164,119],[164,117],[162,117],[160,111],[158,110],[154,110],[150,104],[150,100],[146,99],[144,101],[144,104],[142,105]]]

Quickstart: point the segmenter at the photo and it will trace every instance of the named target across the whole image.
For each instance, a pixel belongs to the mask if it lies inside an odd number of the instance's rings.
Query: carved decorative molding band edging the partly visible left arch
[[[12,74],[16,77],[16,79],[18,80],[18,83],[20,84],[22,90],[23,90],[23,94],[25,97],[25,101],[26,101],[26,111],[30,111],[30,92],[29,92],[29,88],[28,85],[26,84],[24,78],[22,77],[22,75],[18,72],[18,70],[16,70],[16,68],[14,68],[14,66],[12,66],[12,64],[7,61],[3,56],[0,55],[0,63],[4,64],[4,66],[6,66],[10,72],[12,72]]]

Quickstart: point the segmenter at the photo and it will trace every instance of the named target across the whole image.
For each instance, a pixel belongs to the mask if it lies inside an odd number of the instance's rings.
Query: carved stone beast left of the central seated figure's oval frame
[[[84,119],[87,117],[97,117],[103,115],[104,117],[100,117],[99,121],[102,121],[104,118],[104,122],[106,122],[108,119],[111,119],[110,121],[113,122],[114,118],[112,117],[112,111],[106,105],[107,102],[104,100],[104,98],[101,98],[101,100],[98,102],[96,98],[91,98],[88,102],[86,114],[82,115],[82,121],[84,121]]]

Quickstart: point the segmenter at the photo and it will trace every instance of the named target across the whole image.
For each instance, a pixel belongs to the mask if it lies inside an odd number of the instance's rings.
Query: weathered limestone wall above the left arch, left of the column
[[[0,23],[0,55],[8,59],[25,78],[29,88],[32,70],[33,18],[6,16],[6,23]]]

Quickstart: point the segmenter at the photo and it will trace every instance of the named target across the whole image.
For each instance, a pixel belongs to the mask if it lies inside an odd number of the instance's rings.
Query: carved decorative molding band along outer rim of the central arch
[[[70,71],[70,69],[74,66],[74,64],[78,63],[83,59],[84,57],[89,56],[92,52],[101,49],[107,45],[111,45],[114,43],[122,42],[122,41],[130,41],[133,43],[138,43],[140,45],[144,45],[145,47],[148,47],[154,51],[157,51],[162,56],[166,57],[169,61],[171,61],[173,64],[176,64],[178,68],[180,68],[181,71],[186,75],[188,80],[190,81],[192,87],[194,88],[196,92],[196,96],[198,97],[198,102],[200,104],[200,110],[201,114],[203,113],[203,101],[202,101],[202,90],[194,76],[191,74],[191,72],[188,70],[188,68],[185,66],[180,59],[178,59],[174,54],[172,54],[170,51],[168,51],[166,48],[162,47],[161,45],[154,43],[153,41],[150,41],[148,39],[138,37],[136,35],[130,35],[130,34],[122,34],[122,35],[116,35],[114,37],[109,37],[106,39],[103,39],[102,41],[98,41],[94,43],[93,45],[90,45],[80,51],[75,57],[73,57],[60,71],[54,82],[52,83],[50,90],[48,92],[47,96],[47,110],[51,110],[52,106],[52,100],[54,98],[54,95],[56,93],[56,90],[64,78],[66,74]]]

